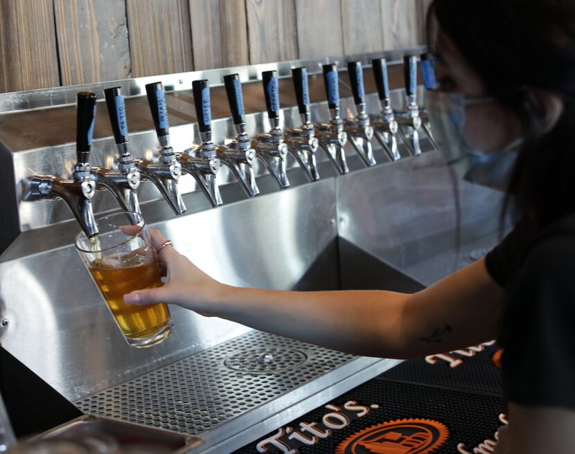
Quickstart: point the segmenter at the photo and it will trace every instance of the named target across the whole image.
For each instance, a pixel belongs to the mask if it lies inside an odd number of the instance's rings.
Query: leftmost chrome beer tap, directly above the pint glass
[[[96,194],[96,176],[89,164],[94,120],[96,119],[96,95],[87,91],[77,96],[76,164],[71,178],[60,175],[33,176],[24,200],[62,199],[88,237],[98,233],[92,198]]]

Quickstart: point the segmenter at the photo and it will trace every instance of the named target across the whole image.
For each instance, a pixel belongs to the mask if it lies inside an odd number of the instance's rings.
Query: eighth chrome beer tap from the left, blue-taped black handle
[[[329,160],[340,175],[349,172],[344,146],[347,143],[347,133],[344,131],[344,120],[339,116],[339,79],[335,64],[324,64],[324,84],[330,111],[330,122],[320,123],[317,127],[319,147],[324,149]]]

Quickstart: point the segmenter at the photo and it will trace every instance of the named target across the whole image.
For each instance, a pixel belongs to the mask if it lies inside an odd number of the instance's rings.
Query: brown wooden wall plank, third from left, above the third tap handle
[[[132,77],[193,70],[188,0],[126,0]]]

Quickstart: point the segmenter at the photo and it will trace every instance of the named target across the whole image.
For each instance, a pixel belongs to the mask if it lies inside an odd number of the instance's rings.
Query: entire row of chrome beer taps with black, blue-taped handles
[[[137,189],[141,181],[151,181],[177,215],[186,211],[178,187],[179,177],[191,174],[211,206],[222,204],[218,186],[221,165],[231,172],[249,197],[259,193],[254,163],[259,159],[276,180],[279,188],[288,188],[286,159],[294,156],[309,181],[319,180],[316,154],[323,149],[339,174],[349,172],[344,146],[347,141],[366,166],[376,164],[372,140],[378,140],[391,161],[400,159],[398,141],[405,143],[414,156],[421,154],[420,133],[423,129],[432,140],[425,111],[417,102],[417,62],[415,55],[405,57],[407,111],[394,113],[391,107],[387,62],[372,61],[373,74],[380,99],[380,114],[366,112],[363,68],[360,62],[348,62],[347,69],[353,98],[355,118],[343,119],[339,113],[339,79],[336,64],[323,66],[324,84],[330,121],[314,125],[311,121],[308,73],[306,68],[292,69],[292,80],[301,119],[299,128],[281,129],[277,71],[262,73],[270,130],[250,138],[245,123],[242,85],[238,74],[224,76],[235,137],[228,145],[212,141],[211,102],[208,80],[192,83],[193,98],[201,144],[177,153],[170,145],[166,96],[161,82],[145,86],[148,104],[159,141],[159,157],[154,161],[134,158],[130,153],[125,100],[120,87],[105,89],[105,100],[116,143],[116,167],[92,167],[89,154],[96,118],[96,94],[78,93],[76,128],[76,164],[70,178],[60,175],[35,175],[28,180],[25,200],[62,199],[67,203],[80,226],[90,237],[98,233],[92,199],[98,190],[109,190],[118,204],[127,211],[141,212]],[[427,88],[434,85],[431,60],[421,58],[423,79]]]

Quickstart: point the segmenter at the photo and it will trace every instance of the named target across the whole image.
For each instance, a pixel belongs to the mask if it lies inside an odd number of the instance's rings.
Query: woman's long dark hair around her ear
[[[575,212],[575,1],[434,0],[427,13],[430,43],[441,28],[513,111],[525,142],[511,176],[505,211],[522,218],[522,236]],[[545,134],[544,107],[532,89],[560,96],[563,115]]]

